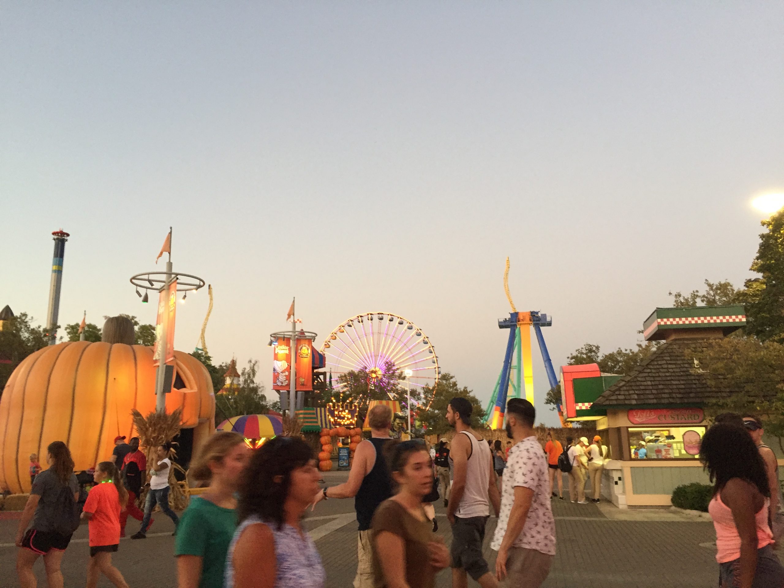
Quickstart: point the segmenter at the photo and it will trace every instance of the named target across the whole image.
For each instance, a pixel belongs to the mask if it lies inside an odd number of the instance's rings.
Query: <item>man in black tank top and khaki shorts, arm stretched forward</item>
[[[320,500],[354,497],[357,511],[359,537],[357,543],[357,575],[354,588],[372,588],[373,554],[370,522],[379,504],[392,495],[392,480],[383,450],[392,441],[392,410],[385,405],[376,405],[368,412],[368,424],[372,437],[357,445],[354,462],[345,484],[331,486],[319,491],[314,505]]]

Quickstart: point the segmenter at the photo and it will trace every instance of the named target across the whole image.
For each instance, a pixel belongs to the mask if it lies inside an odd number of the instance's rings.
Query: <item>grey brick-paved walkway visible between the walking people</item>
[[[330,473],[332,485],[345,479],[343,472]],[[328,588],[348,588],[357,566],[357,532],[353,500],[319,503],[307,519],[327,572]],[[709,588],[717,585],[713,559],[713,525],[662,510],[620,511],[610,505],[572,504],[555,500],[557,555],[544,586],[547,588]],[[451,543],[445,510],[437,505],[438,534]],[[176,586],[172,557],[172,522],[156,517],[147,539],[123,539],[114,563],[131,588]],[[130,533],[137,521],[129,521]],[[0,520],[0,586],[16,588],[13,534],[16,521]],[[495,519],[488,522],[485,554],[494,565],[495,552],[488,548]],[[129,533],[129,534],[130,534]],[[702,544],[702,546],[701,546]],[[74,535],[65,557],[65,586],[85,585],[89,559],[87,528]],[[42,563],[37,564],[38,586],[46,586]],[[438,576],[437,586],[451,586],[448,570]],[[470,586],[478,586],[473,581]],[[99,586],[111,586],[101,579]]]

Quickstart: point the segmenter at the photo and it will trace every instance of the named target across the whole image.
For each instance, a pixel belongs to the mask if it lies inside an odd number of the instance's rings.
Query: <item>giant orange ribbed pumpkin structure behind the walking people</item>
[[[77,471],[109,459],[114,437],[134,434],[131,409],[155,410],[155,370],[152,347],[125,343],[59,343],[27,356],[0,397],[0,488],[29,492],[28,457],[44,464],[52,441],[71,448]],[[212,379],[182,351],[175,372],[180,389],[166,394],[166,411],[183,409],[195,452],[215,430]]]

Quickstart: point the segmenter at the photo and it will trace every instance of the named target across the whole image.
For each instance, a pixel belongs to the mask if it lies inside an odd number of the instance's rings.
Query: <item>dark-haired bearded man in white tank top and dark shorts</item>
[[[490,504],[498,516],[501,498],[495,485],[492,453],[471,428],[471,412],[470,401],[463,397],[452,398],[446,409],[446,419],[457,432],[449,451],[454,480],[446,514],[452,524],[452,588],[468,586],[466,573],[482,588],[495,588],[498,582],[482,556],[482,543]]]

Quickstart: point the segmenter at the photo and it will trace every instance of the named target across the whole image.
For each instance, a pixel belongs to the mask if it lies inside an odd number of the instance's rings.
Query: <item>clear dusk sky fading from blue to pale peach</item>
[[[261,365],[296,296],[324,336],[416,322],[492,392],[510,308],[553,316],[556,371],[632,347],[670,290],[735,285],[753,196],[784,191],[782,2],[5,2],[0,307],[136,314],[174,227],[216,362]],[[163,263],[158,263],[162,269]],[[207,307],[188,296],[176,347]],[[546,376],[534,358],[537,421]],[[276,397],[276,396],[275,396]]]

